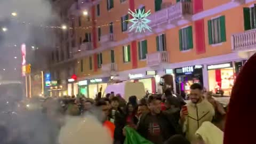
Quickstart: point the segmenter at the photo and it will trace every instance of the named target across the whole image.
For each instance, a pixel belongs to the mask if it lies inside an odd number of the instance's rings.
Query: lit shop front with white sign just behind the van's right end
[[[129,74],[129,79],[132,82],[142,82],[145,86],[145,91],[156,93],[156,71],[149,70],[145,74]]]

